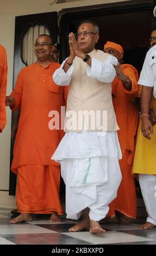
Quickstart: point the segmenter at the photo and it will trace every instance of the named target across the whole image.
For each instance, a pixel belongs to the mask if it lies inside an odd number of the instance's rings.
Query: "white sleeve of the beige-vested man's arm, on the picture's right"
[[[87,65],[87,75],[105,83],[111,83],[116,76],[114,65],[117,65],[117,59],[109,56],[104,62],[91,58],[91,66]]]

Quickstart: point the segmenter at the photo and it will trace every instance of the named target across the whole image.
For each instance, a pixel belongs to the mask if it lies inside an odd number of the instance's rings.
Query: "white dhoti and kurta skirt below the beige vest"
[[[67,132],[52,159],[61,164],[67,218],[77,220],[89,208],[91,220],[102,220],[121,182],[117,132]]]

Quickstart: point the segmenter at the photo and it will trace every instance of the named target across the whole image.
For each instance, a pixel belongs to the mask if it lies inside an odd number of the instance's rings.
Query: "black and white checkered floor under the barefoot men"
[[[139,229],[143,220],[130,224],[103,224],[104,234],[87,230],[71,233],[76,221],[61,217],[61,223],[50,223],[48,216],[33,216],[32,222],[9,224],[10,209],[0,208],[0,245],[156,245],[156,228]]]

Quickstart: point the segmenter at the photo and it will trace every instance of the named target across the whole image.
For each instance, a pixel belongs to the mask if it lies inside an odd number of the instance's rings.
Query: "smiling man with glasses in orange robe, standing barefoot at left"
[[[37,62],[20,71],[15,89],[5,100],[13,111],[21,107],[11,165],[17,174],[17,211],[21,214],[10,223],[32,221],[31,214],[51,214],[51,221],[57,222],[58,215],[63,214],[59,198],[60,166],[51,160],[51,155],[64,132],[60,126],[49,129],[48,114],[57,111],[60,116],[67,87],[59,87],[52,80],[60,64],[51,62],[51,52],[52,38],[40,35],[35,42]]]

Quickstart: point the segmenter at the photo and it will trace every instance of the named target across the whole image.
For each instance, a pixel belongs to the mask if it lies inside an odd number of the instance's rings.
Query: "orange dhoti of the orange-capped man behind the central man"
[[[119,160],[122,180],[118,187],[117,197],[110,203],[108,215],[115,217],[115,210],[129,218],[136,218],[136,192],[132,172],[132,164],[128,164],[130,151],[125,150],[122,160]]]

